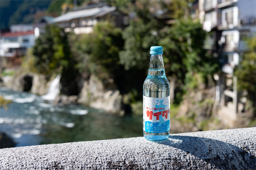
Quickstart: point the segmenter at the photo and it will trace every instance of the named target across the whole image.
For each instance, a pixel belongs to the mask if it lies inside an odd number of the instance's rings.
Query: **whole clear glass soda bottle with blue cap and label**
[[[160,142],[168,139],[170,131],[170,84],[163,66],[163,48],[150,48],[148,77],[143,84],[143,135]]]

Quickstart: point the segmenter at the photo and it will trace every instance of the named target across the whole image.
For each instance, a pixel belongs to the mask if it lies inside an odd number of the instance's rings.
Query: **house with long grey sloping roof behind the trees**
[[[107,6],[105,3],[94,3],[87,6],[74,8],[66,14],[52,20],[64,31],[73,30],[75,34],[88,34],[93,31],[93,26],[101,20],[112,17],[116,27],[125,28],[128,18],[116,11],[115,6]]]

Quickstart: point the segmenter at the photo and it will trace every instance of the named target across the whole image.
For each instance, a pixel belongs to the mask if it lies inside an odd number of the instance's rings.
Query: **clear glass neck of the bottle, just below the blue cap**
[[[152,76],[165,76],[164,66],[163,66],[163,55],[151,54],[148,75]]]

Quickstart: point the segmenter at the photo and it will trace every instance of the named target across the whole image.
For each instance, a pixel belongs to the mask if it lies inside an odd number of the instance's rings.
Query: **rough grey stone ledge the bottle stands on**
[[[0,150],[1,170],[256,169],[256,127]]]

